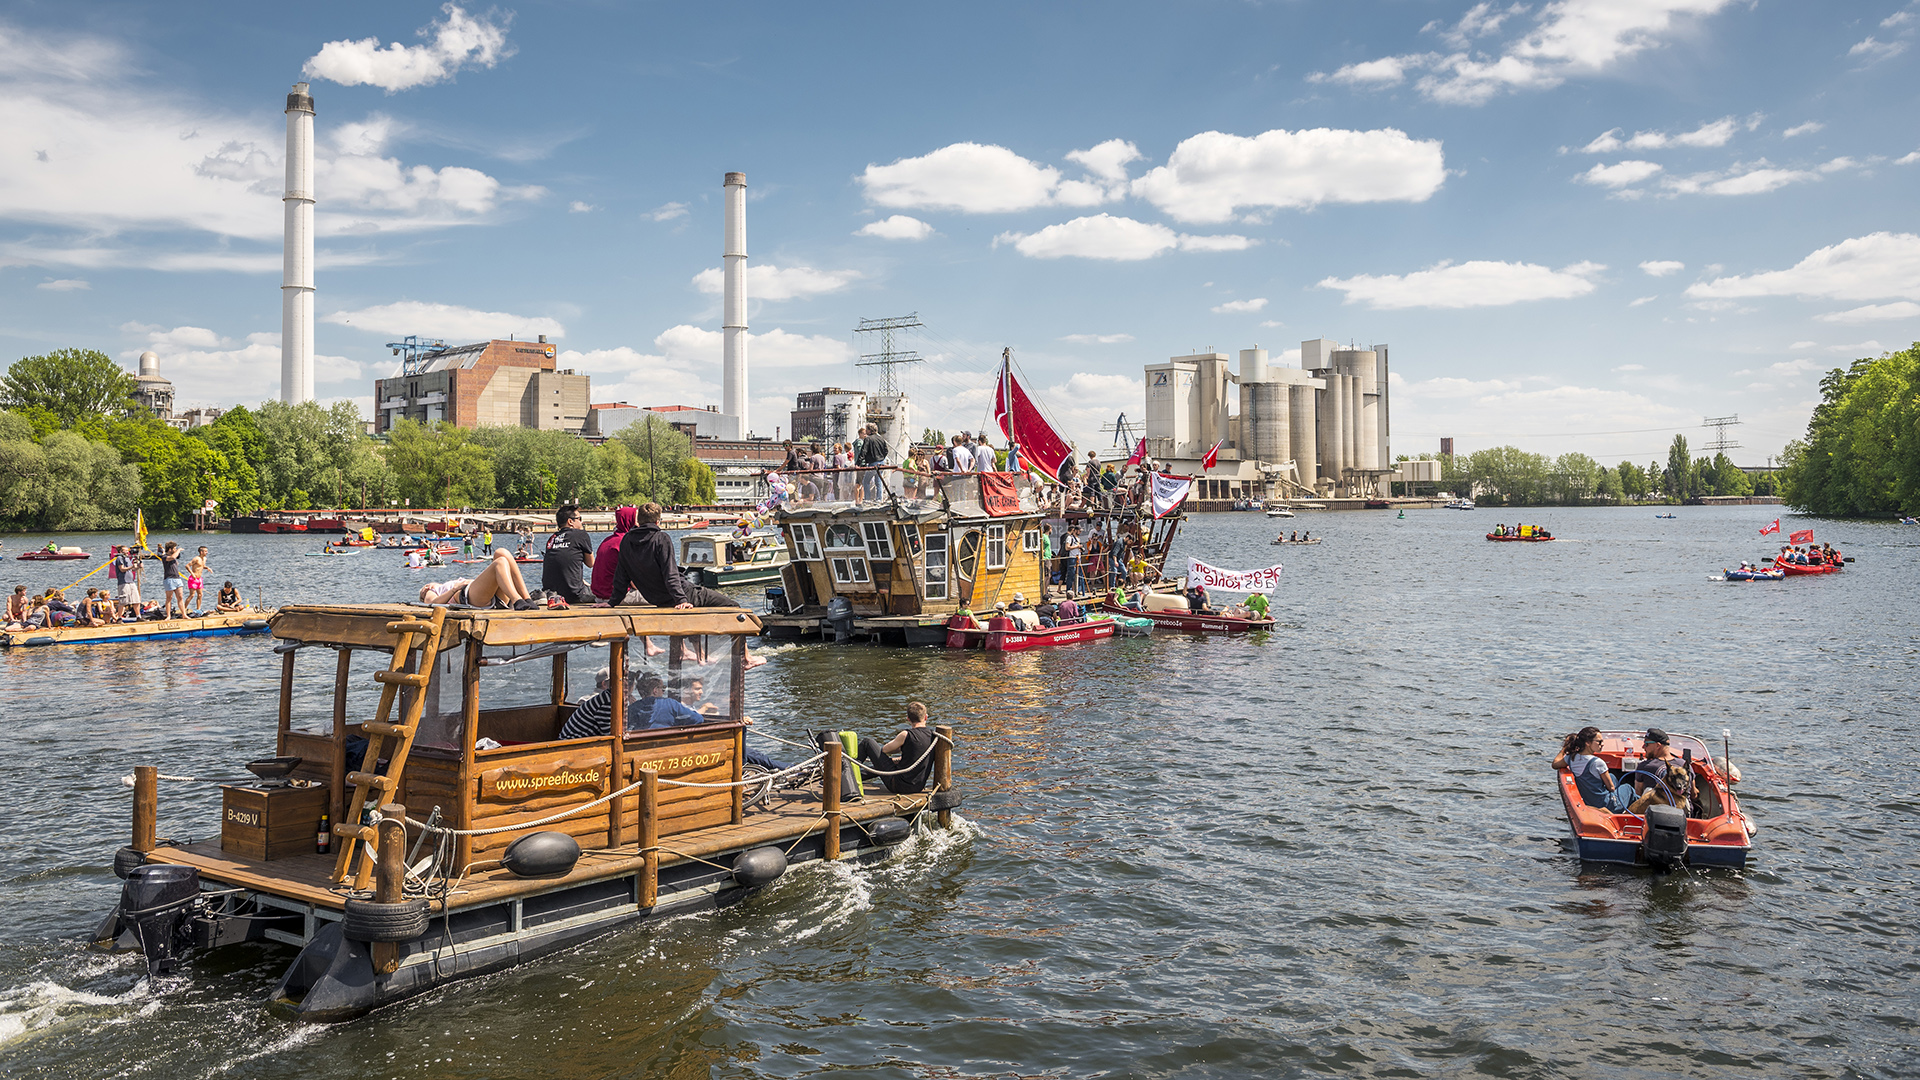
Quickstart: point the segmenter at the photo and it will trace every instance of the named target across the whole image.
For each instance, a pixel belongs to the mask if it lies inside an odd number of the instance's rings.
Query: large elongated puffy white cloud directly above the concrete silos
[[[1396,129],[1204,131],[1173,148],[1165,165],[1133,181],[1133,194],[1177,221],[1217,223],[1240,208],[1311,208],[1344,202],[1427,202],[1446,181],[1436,138]]]

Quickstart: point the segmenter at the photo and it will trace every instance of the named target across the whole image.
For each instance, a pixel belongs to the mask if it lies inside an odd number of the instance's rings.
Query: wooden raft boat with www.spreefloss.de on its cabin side
[[[947,726],[924,794],[843,792],[837,738],[820,742],[810,788],[743,778],[758,632],[743,609],[282,607],[275,757],[248,763],[263,780],[223,784],[219,838],[177,844],[157,840],[157,769],[134,769],[132,844],[113,861],[125,886],[94,945],[136,947],[152,974],[186,949],[296,945],[269,1009],[349,1020],[737,901],[791,863],[883,859],[924,811],[947,826],[960,805]],[[664,653],[645,655],[643,636]],[[607,694],[624,734],[559,738],[572,653],[589,694],[601,663],[618,673]],[[697,682],[712,688],[697,709],[662,698],[691,700]],[[662,707],[689,723],[651,726]]]

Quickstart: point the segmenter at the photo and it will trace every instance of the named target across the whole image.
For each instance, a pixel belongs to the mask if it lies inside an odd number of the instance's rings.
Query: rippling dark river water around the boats
[[[1920,528],[1812,523],[1847,573],[1726,584],[1776,507],[1676,513],[1528,511],[1555,544],[1480,540],[1488,509],[1284,523],[1313,548],[1202,515],[1183,553],[1286,565],[1275,632],[772,650],[749,694],[776,730],[883,734],[908,700],[952,723],[962,828],[332,1028],[261,1009],[286,947],[161,986],[83,949],[119,776],[271,749],[267,640],[12,650],[0,1074],[1920,1074]],[[419,588],[384,552],[207,540],[250,598]],[[1548,759],[1588,723],[1732,728],[1751,867],[1576,861]],[[213,807],[163,786],[161,828]]]

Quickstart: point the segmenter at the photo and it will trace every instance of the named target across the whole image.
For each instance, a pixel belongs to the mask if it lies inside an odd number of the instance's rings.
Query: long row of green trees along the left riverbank
[[[367,434],[353,402],[261,402],[180,430],[94,350],[15,361],[0,377],[0,530],[184,525],[276,509],[710,503],[712,471],[660,417],[595,446],[563,430],[399,421]]]

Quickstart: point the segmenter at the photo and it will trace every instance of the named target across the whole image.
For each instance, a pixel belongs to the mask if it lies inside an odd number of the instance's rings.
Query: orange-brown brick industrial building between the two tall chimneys
[[[545,334],[538,342],[488,340],[409,354],[401,373],[372,384],[374,430],[405,417],[455,427],[588,427],[591,380],[555,365]]]

